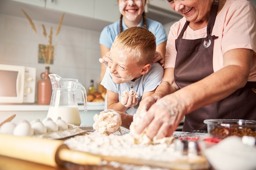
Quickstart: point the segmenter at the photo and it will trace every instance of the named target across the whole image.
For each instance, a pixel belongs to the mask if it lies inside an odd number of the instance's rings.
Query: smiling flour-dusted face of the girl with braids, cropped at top
[[[118,0],[119,11],[124,19],[129,21],[141,20],[146,0]]]

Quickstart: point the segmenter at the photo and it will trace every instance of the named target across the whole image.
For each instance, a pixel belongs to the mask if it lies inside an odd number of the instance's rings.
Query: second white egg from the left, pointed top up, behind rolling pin
[[[23,120],[14,128],[13,135],[32,136],[34,135],[34,129],[31,128],[31,125],[27,120]]]

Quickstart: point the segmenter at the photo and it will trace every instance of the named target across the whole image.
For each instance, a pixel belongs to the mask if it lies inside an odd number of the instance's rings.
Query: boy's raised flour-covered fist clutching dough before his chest
[[[123,91],[121,95],[121,104],[125,107],[132,107],[138,104],[138,94],[136,91]]]

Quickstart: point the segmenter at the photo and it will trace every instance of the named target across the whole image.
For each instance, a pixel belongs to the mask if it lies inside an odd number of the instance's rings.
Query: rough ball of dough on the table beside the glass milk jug
[[[122,124],[121,116],[112,109],[104,110],[99,115],[94,115],[93,119],[94,124],[92,127],[94,130],[105,135],[116,132]]]

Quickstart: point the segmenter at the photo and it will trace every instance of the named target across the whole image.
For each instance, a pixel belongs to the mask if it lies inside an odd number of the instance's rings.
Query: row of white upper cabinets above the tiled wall
[[[51,11],[65,12],[81,17],[107,22],[119,20],[117,0],[12,0],[42,7]]]

